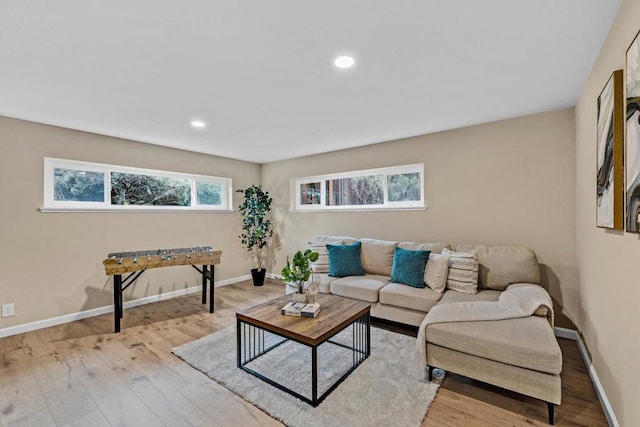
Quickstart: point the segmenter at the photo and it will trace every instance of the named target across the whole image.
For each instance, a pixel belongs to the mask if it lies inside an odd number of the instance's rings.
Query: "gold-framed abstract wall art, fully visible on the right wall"
[[[598,96],[596,226],[624,229],[622,70],[614,71]]]

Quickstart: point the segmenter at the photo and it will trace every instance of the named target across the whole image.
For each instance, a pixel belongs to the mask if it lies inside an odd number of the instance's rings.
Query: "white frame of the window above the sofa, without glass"
[[[389,200],[388,177],[407,173],[417,173],[420,182],[420,200],[392,202]],[[330,180],[357,178],[370,175],[382,175],[383,203],[376,205],[327,205],[326,183]],[[309,183],[320,183],[320,204],[301,204],[301,186]],[[390,166],[377,169],[363,169],[357,171],[332,173],[326,175],[307,176],[291,180],[293,200],[291,210],[297,212],[330,212],[330,211],[363,211],[363,210],[424,210],[424,163],[411,165]]]

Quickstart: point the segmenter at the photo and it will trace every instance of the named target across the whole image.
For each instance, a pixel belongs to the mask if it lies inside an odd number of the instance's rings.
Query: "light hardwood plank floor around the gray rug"
[[[282,292],[275,281],[243,282],[216,288],[214,314],[192,294],[126,309],[119,334],[109,314],[0,339],[0,426],[281,425],[171,349],[234,324],[237,309]],[[556,425],[605,426],[575,342],[560,345]],[[542,402],[450,375],[423,425],[528,426],[546,419]]]

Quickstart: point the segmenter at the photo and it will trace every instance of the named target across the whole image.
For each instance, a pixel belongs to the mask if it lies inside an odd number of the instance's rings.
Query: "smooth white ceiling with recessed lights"
[[[571,107],[619,5],[0,0],[0,115],[267,163]]]

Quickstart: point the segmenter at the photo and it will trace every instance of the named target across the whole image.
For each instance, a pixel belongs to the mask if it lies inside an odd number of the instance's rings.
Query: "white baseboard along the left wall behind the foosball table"
[[[215,283],[215,287],[230,285],[232,283],[242,282],[244,280],[250,280],[251,275],[233,277],[231,279],[220,280]],[[177,291],[165,292],[158,295],[151,295],[144,298],[138,298],[131,301],[125,301],[123,303],[124,308],[137,307],[139,305],[151,304],[153,302],[163,301],[170,298],[179,297],[182,295],[188,295],[195,292],[200,292],[202,286],[193,286],[191,288],[179,289]],[[63,316],[51,317],[49,319],[37,320],[35,322],[25,323],[22,325],[10,326],[8,328],[0,329],[0,338],[8,337],[11,335],[22,334],[29,331],[35,331],[36,329],[48,328],[50,326],[61,325],[63,323],[74,322],[76,320],[86,319],[88,317],[99,316],[101,314],[107,314],[113,312],[113,305],[107,305],[104,307],[92,308],[90,310],[83,310],[77,313],[65,314]]]

